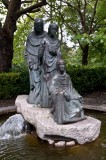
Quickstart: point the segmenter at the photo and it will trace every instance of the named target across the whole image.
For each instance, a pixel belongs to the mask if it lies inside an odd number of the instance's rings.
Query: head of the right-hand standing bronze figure
[[[55,37],[58,32],[58,25],[56,23],[51,23],[48,28],[48,34],[51,37]]]

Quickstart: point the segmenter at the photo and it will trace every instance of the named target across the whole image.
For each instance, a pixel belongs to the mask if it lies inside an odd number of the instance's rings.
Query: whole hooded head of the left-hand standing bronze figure
[[[35,34],[41,34],[43,32],[44,24],[41,18],[36,18],[34,20],[34,32]]]

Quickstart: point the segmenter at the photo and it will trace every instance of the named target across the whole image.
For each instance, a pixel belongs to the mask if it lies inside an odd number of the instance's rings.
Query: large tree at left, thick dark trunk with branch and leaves
[[[46,0],[0,1],[0,14],[6,13],[5,20],[0,21],[0,72],[8,71],[12,67],[13,39],[18,20],[25,14],[38,12],[46,3]]]

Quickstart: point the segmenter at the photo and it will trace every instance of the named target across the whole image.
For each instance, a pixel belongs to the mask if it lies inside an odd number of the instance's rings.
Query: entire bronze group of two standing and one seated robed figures
[[[61,59],[58,25],[49,25],[44,32],[43,20],[35,19],[34,31],[27,38],[25,57],[29,66],[30,93],[28,103],[51,108],[58,124],[77,122],[86,118],[82,97],[74,89]]]

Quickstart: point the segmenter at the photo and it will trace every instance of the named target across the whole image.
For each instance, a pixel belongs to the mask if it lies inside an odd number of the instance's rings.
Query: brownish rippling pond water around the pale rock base
[[[106,160],[106,114],[88,112],[102,121],[101,133],[94,142],[74,147],[55,148],[33,135],[17,139],[0,140],[0,160]],[[3,123],[6,117],[1,117]]]

